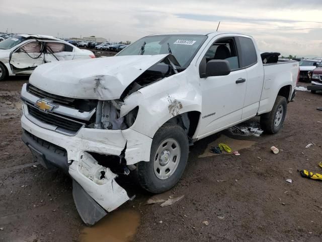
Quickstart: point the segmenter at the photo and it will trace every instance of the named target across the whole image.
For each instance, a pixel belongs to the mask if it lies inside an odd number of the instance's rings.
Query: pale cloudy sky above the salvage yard
[[[152,33],[252,35],[261,51],[322,56],[322,0],[0,0],[0,32],[135,41]]]

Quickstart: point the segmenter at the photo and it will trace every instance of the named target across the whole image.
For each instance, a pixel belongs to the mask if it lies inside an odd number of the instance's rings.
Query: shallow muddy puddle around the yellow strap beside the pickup
[[[207,148],[205,149],[203,154],[199,155],[198,158],[228,154],[226,152],[223,152],[222,154],[214,154],[210,151],[211,147],[218,146],[219,143],[223,143],[223,144],[228,145],[232,149],[232,151],[239,151],[242,149],[251,148],[257,142],[250,141],[250,140],[236,140],[236,139],[231,139],[225,135],[220,135],[220,137],[218,139],[216,139],[215,141],[213,141],[207,145]]]

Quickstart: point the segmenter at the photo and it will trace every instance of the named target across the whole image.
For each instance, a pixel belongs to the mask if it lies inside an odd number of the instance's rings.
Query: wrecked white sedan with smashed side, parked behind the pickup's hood
[[[0,42],[0,81],[7,76],[30,75],[45,63],[89,58],[95,58],[92,51],[52,36],[14,35]]]

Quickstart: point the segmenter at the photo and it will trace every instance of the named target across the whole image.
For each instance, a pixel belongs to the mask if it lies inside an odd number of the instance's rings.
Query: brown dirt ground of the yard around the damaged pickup
[[[35,163],[20,140],[19,95],[27,81],[16,77],[0,83],[0,240],[87,241],[79,237],[88,230],[74,206],[71,179]],[[168,193],[184,195],[182,200],[167,207],[145,205],[151,194],[133,185],[136,198],[107,218],[112,219],[107,226],[114,224],[112,230],[125,235],[92,241],[322,241],[322,181],[297,171],[322,172],[318,106],[322,94],[298,91],[280,133],[256,135],[254,118],[196,142],[182,179]],[[243,132],[245,127],[250,132]],[[244,144],[240,156],[209,153],[218,138],[235,147]],[[315,145],[305,148],[309,143]],[[276,155],[273,145],[280,149]],[[129,223],[131,216],[137,226]],[[127,235],[128,227],[136,230],[134,236]],[[90,229],[112,231],[102,224]]]

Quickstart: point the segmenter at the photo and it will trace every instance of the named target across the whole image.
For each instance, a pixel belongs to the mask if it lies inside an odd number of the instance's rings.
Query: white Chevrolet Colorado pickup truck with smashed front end
[[[197,140],[254,116],[277,133],[299,72],[278,55],[243,34],[180,33],[113,57],[44,64],[22,88],[22,140],[45,167],[70,174],[76,208],[94,224],[130,199],[120,173],[162,193]]]

